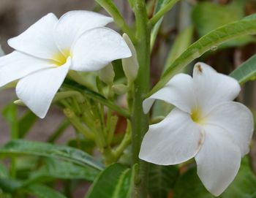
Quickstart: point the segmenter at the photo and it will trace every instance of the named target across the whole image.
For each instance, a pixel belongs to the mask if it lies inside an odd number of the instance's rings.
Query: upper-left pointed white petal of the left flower
[[[59,49],[53,39],[53,28],[58,22],[53,13],[45,15],[8,44],[23,53],[39,58],[53,58]]]

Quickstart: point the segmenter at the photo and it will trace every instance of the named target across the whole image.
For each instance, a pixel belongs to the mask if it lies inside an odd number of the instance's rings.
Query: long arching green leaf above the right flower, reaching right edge
[[[157,85],[147,94],[147,97],[154,94],[159,88],[162,88],[176,72],[181,71],[184,66],[187,66],[187,64],[203,55],[203,53],[211,49],[216,50],[222,43],[248,34],[256,34],[256,19],[238,20],[234,23],[229,23],[217,28],[201,37],[197,42],[190,45],[173,64],[168,66],[161,80],[159,80]]]

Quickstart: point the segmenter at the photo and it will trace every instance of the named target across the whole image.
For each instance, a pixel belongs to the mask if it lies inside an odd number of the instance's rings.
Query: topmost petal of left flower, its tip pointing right
[[[73,42],[83,32],[96,27],[102,27],[112,22],[113,18],[100,15],[97,12],[74,10],[65,13],[57,23],[54,35],[61,50],[70,49]]]

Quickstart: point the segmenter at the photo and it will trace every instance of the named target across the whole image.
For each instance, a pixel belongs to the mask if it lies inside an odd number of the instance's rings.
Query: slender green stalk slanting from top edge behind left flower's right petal
[[[126,34],[128,34],[129,38],[132,40],[132,42],[136,41],[136,38],[134,34],[132,33],[132,30],[129,28],[127,23],[125,22],[124,18],[118,11],[115,4],[113,4],[112,0],[96,0],[98,4],[100,4],[104,9],[108,12],[108,14],[111,15],[113,20],[115,21],[116,25],[121,28],[122,31],[124,31]]]

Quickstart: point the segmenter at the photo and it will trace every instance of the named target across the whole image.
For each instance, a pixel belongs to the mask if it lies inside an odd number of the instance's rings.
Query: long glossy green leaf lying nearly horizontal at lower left
[[[21,154],[63,159],[83,167],[89,166],[96,170],[102,170],[102,164],[95,161],[89,154],[64,145],[52,145],[27,140],[12,140],[0,148],[0,156]]]

